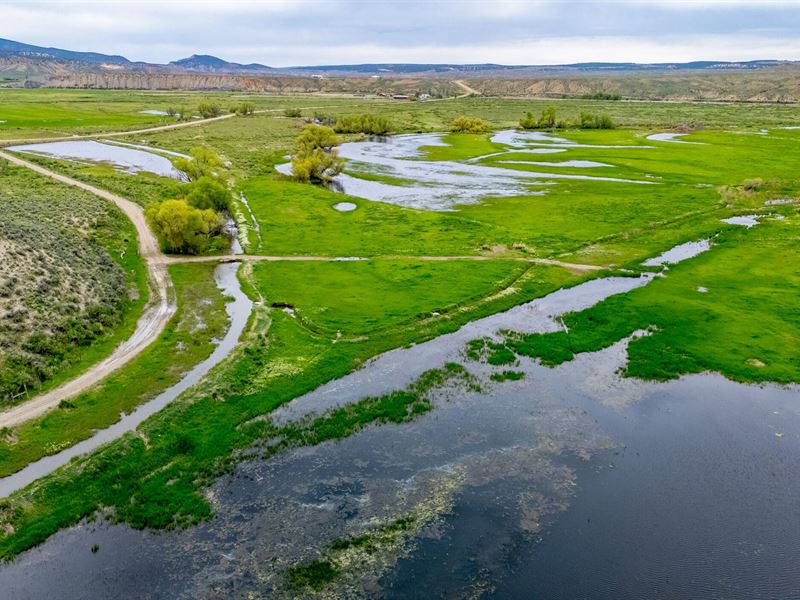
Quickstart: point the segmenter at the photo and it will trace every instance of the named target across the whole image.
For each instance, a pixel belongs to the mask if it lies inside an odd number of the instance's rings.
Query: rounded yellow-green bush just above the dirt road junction
[[[197,254],[208,247],[208,240],[219,233],[224,220],[212,209],[200,210],[186,200],[166,200],[147,209],[147,219],[161,239],[164,250]]]

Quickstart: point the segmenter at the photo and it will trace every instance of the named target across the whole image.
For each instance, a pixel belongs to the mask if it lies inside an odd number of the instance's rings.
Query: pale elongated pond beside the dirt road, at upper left
[[[80,140],[10,146],[8,150],[76,162],[108,163],[123,173],[136,174],[146,171],[162,177],[187,181],[186,175],[176,169],[168,158],[136,146]]]

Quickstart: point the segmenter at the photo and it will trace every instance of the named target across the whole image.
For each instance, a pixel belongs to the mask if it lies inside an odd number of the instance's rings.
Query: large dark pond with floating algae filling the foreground
[[[210,523],[83,524],[0,585],[20,600],[292,597],[291,565],[413,518],[369,560],[337,557],[326,596],[794,597],[797,390],[623,381],[623,356],[620,343],[556,369],[525,360],[503,383],[469,364],[481,390],[441,390],[411,424],[240,465],[210,492]]]

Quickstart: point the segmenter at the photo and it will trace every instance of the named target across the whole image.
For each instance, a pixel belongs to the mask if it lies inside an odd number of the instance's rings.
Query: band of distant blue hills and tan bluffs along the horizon
[[[456,79],[475,80],[538,80],[536,85],[516,85],[508,83],[503,89],[519,90],[517,93],[528,95],[546,94],[591,94],[596,91],[608,91],[600,79],[614,75],[679,75],[699,74],[716,76],[717,74],[735,72],[758,72],[763,69],[789,66],[791,73],[786,77],[796,77],[800,63],[776,60],[753,61],[695,61],[687,63],[575,63],[563,65],[499,65],[494,63],[449,64],[449,63],[365,63],[357,65],[319,65],[274,68],[262,64],[240,64],[229,62],[207,54],[193,54],[187,58],[175,60],[168,64],[133,62],[119,55],[101,54],[98,52],[76,52],[60,48],[33,46],[13,40],[0,39],[0,84],[27,87],[133,87],[136,89],[262,89],[275,87],[281,91],[304,91],[308,89],[326,89],[330,91],[347,91],[351,88],[357,92],[382,92],[395,90],[399,93],[407,91],[407,84],[412,81],[415,89],[425,88],[425,93],[443,92],[439,83]],[[781,75],[783,77],[783,75]],[[263,81],[256,81],[262,77]],[[275,79],[267,82],[266,78]],[[586,78],[597,78],[598,81],[587,84]],[[310,80],[316,83],[312,85]],[[321,83],[321,80],[328,80]],[[349,83],[341,80],[348,79]],[[565,83],[575,79],[572,83]],[[278,81],[281,80],[281,81]],[[286,80],[286,81],[283,81]],[[292,81],[289,81],[292,80]],[[301,82],[300,80],[309,80]],[[339,80],[339,84],[334,82]],[[359,83],[357,80],[361,80]],[[364,81],[367,80],[367,81]],[[559,81],[560,80],[560,81]],[[395,89],[390,81],[398,83]],[[404,82],[404,83],[400,83]],[[423,83],[424,82],[424,83]],[[661,97],[665,91],[644,92],[644,88],[628,83],[615,93],[626,97]],[[446,86],[445,86],[446,87]],[[789,86],[794,89],[793,85]],[[430,88],[430,89],[428,89]],[[266,88],[265,88],[266,89]],[[499,89],[499,88],[498,88]],[[559,92],[563,89],[563,92]],[[699,88],[698,88],[699,89]],[[788,88],[787,88],[788,89]],[[459,88],[461,93],[463,90]],[[703,92],[703,97],[723,96],[723,90]],[[745,98],[796,98],[794,93],[776,87],[756,93],[748,91]],[[484,93],[492,93],[491,86]],[[511,93],[510,91],[508,93]],[[709,95],[710,94],[710,95]]]

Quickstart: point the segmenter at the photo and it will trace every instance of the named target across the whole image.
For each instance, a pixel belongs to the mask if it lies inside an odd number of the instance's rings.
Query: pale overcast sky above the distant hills
[[[800,60],[800,0],[0,0],[0,38],[166,63]]]

